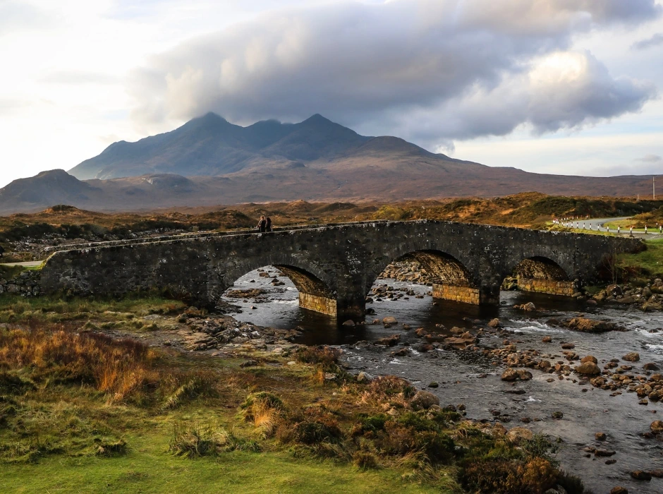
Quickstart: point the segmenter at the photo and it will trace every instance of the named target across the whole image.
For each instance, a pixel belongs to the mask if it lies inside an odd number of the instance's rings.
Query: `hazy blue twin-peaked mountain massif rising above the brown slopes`
[[[268,120],[241,127],[208,113],[171,132],[111,144],[69,172],[81,180],[154,173],[221,176],[265,163],[333,159],[369,139],[321,115],[294,124]]]

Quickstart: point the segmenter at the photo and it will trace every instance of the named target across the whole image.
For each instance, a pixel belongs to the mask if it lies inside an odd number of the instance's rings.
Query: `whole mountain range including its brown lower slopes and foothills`
[[[407,200],[557,195],[641,196],[651,176],[533,174],[434,154],[406,140],[367,137],[314,115],[248,127],[209,113],[176,130],[120,141],[71,169],[44,171],[0,189],[0,214],[68,204],[87,210],[247,202]]]

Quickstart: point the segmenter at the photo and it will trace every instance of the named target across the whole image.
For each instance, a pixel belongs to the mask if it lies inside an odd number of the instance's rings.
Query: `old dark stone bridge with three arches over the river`
[[[89,244],[51,255],[41,283],[47,293],[157,289],[211,306],[238,277],[274,265],[298,288],[300,306],[360,318],[370,287],[394,260],[420,261],[438,298],[496,304],[505,277],[518,275],[521,289],[571,296],[595,280],[607,256],[642,248],[611,236],[432,220],[359,222]]]

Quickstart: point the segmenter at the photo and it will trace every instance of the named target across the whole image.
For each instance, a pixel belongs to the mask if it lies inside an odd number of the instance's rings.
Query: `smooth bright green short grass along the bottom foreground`
[[[288,452],[231,452],[214,459],[174,457],[167,438],[129,438],[123,457],[51,458],[4,465],[0,485],[11,493],[440,493],[440,486],[401,480],[403,471],[360,472],[334,462],[295,459]]]

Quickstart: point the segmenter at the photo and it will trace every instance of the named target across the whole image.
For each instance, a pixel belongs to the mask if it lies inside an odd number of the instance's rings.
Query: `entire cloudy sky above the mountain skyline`
[[[0,186],[216,112],[663,174],[663,0],[0,0]]]

